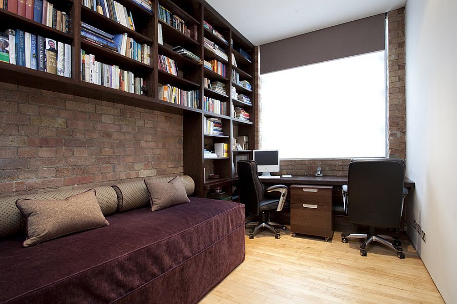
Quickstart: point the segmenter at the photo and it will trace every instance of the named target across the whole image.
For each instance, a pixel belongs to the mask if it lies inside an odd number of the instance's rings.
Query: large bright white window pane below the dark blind
[[[263,74],[262,149],[281,159],[385,157],[385,74],[384,51]]]

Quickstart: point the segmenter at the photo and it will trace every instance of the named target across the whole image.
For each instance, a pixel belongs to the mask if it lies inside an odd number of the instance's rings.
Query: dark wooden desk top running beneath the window
[[[287,183],[287,184],[311,184],[311,185],[333,185],[341,186],[347,184],[347,176],[303,176],[303,175],[292,175],[292,177],[271,177],[271,178],[262,178],[259,176],[260,181],[263,183]],[[205,183],[205,189],[211,189],[222,184],[231,183],[237,181],[238,177],[233,178],[218,178],[214,180],[207,180]],[[405,187],[414,188],[415,183],[405,177]]]

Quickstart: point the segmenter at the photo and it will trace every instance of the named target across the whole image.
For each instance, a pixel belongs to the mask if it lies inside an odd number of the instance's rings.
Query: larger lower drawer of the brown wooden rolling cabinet
[[[290,204],[290,230],[294,233],[331,238],[332,206]]]

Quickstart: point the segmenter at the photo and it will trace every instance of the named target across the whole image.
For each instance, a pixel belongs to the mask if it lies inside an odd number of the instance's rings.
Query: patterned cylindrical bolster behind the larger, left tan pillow
[[[116,212],[117,196],[112,187],[95,187],[97,201],[103,215]],[[25,230],[25,222],[16,207],[18,199],[28,200],[64,200],[76,194],[86,192],[88,189],[77,189],[69,191],[51,191],[29,195],[17,195],[0,199],[0,238],[20,233]]]

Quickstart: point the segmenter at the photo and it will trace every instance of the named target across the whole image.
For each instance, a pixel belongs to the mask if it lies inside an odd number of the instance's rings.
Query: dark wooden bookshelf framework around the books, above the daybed
[[[54,3],[57,9],[65,11],[69,15],[71,19],[70,33],[58,31],[4,9],[0,9],[0,25],[2,25],[2,30],[7,28],[22,29],[29,33],[71,45],[72,77],[66,78],[0,62],[0,81],[181,115],[183,117],[183,130],[185,130],[183,135],[184,174],[190,175],[195,181],[194,195],[203,197],[205,195],[205,188],[208,188],[209,184],[215,186],[218,181],[225,182],[233,179],[232,167],[234,165],[234,154],[252,154],[252,150],[233,150],[232,144],[234,137],[248,136],[249,147],[254,148],[254,97],[257,88],[257,84],[253,78],[253,63],[235,50],[235,48],[241,48],[254,58],[254,46],[238,30],[204,0],[155,0],[152,4],[152,13],[140,7],[132,0],[118,0],[126,8],[127,12],[132,12],[135,30],[125,27],[113,19],[85,7],[82,0],[55,0],[51,2]],[[159,4],[184,20],[186,25],[197,25],[198,40],[193,40],[167,24],[167,22],[159,20]],[[211,30],[205,28],[204,20],[210,23],[228,43],[225,43]],[[110,34],[127,33],[128,37],[134,39],[137,43],[149,45],[151,47],[150,64],[144,64],[82,40],[80,34],[81,21]],[[164,45],[159,45],[157,42],[157,28],[159,24],[162,28]],[[228,60],[206,49],[203,43],[204,37],[221,47],[227,55]],[[172,51],[171,49],[176,46],[181,46],[194,53],[202,61],[204,59],[207,61],[216,59],[222,62],[226,65],[226,77],[204,67],[203,64],[197,61]],[[124,92],[82,81],[80,73],[81,49],[86,51],[86,54],[94,55],[95,59],[99,62],[118,65],[123,70],[133,72],[135,77],[142,77],[148,89],[147,95]],[[232,65],[232,54],[236,58],[238,67]],[[175,60],[178,65],[179,75],[176,76],[159,70],[157,68],[158,55],[165,55]],[[253,89],[247,90],[235,84],[232,81],[233,70],[239,73],[240,80],[249,81]],[[219,81],[225,84],[225,94],[205,88],[203,85],[204,78],[208,78],[211,82]],[[199,107],[192,108],[157,99],[158,87],[166,84],[187,91],[197,90],[199,92]],[[232,86],[236,88],[238,94],[247,95],[252,105],[232,99]],[[205,96],[225,102],[227,115],[219,115],[204,110],[203,101]],[[232,117],[233,115],[230,111],[232,106],[245,109],[250,115],[250,121],[247,122]],[[204,117],[220,119],[223,135],[204,134]],[[203,153],[205,146],[212,148],[215,143],[226,143],[228,145],[228,156],[205,159]],[[207,170],[207,175],[214,173],[218,174],[220,178],[218,180],[209,180],[207,178],[207,184],[205,184],[204,168],[207,166],[212,170],[212,172],[208,172]]]

